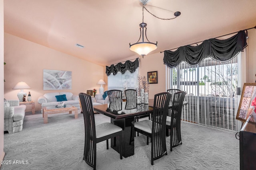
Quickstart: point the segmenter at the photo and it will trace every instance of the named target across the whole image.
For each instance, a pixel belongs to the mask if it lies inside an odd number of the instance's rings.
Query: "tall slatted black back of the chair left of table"
[[[84,160],[94,167],[96,165],[96,130],[92,99],[91,96],[85,93],[79,93],[79,98],[84,115]]]

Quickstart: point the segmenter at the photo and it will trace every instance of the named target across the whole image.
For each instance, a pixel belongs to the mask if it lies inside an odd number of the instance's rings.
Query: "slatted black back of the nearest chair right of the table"
[[[151,138],[151,164],[166,154],[166,116],[172,94],[163,92],[154,96],[154,110],[152,115],[152,138]]]

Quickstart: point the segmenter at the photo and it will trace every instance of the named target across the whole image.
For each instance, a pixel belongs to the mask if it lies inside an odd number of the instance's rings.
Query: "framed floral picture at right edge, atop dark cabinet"
[[[250,115],[249,123],[256,123],[256,83],[244,83],[236,119],[245,122]]]

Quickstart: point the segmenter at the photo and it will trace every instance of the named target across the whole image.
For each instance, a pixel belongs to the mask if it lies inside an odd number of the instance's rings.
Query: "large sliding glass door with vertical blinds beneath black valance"
[[[167,68],[166,87],[186,91],[188,104],[181,119],[229,131],[238,129],[238,57],[240,54],[226,63],[206,58],[197,66],[182,62],[174,69]]]

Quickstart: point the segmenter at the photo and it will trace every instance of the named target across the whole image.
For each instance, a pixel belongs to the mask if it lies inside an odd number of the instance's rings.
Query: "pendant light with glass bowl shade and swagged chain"
[[[144,23],[144,8],[145,7],[143,5],[142,6],[142,23],[140,23],[140,38],[134,44],[129,43],[130,50],[138,53],[139,55],[142,56],[142,58],[144,58],[144,56],[147,55],[148,53],[150,53],[151,51],[154,51],[155,49],[157,49],[157,43],[158,43],[157,41],[156,41],[156,43],[151,43],[150,41],[148,41],[147,32],[146,32],[147,31],[147,28],[146,28],[147,24]],[[161,20],[172,20],[172,19],[177,18],[178,16],[180,16],[181,13],[180,12],[175,12],[174,13],[175,17],[174,18],[168,18],[168,19],[159,18],[159,17],[155,16],[152,13],[150,13],[150,14],[153,15],[154,17],[158,18],[158,19],[161,19]],[[144,37],[146,37],[146,39],[144,39]],[[147,41],[144,41],[144,40],[147,40]],[[139,42],[139,41],[141,41],[141,42]]]

